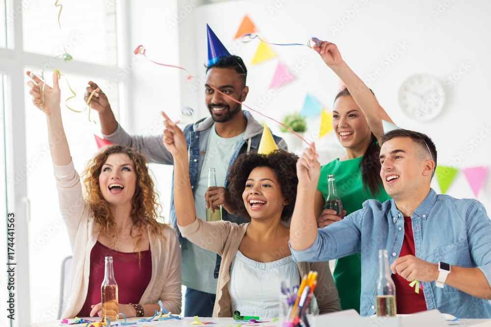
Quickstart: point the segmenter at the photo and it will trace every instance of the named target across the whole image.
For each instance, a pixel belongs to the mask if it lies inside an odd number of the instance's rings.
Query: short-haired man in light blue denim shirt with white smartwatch
[[[428,310],[491,318],[491,220],[479,201],[437,195],[430,188],[436,149],[428,136],[402,129],[385,134],[380,175],[392,200],[365,201],[362,209],[319,229],[313,200],[320,171],[316,156],[313,146],[297,164],[299,186],[290,227],[297,261],[361,253],[360,313],[370,316],[376,305],[378,250],[385,249],[393,274],[423,283]],[[411,218],[415,256],[399,257],[404,216]]]

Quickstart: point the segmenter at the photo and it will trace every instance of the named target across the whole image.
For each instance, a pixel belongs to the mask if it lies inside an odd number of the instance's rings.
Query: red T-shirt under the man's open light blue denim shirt
[[[415,252],[411,217],[404,217],[404,242],[402,242],[399,257],[409,254],[415,256]],[[420,289],[419,294],[417,294],[414,291],[415,286],[409,286],[410,281],[398,274],[392,274],[392,280],[394,280],[394,284],[396,285],[397,313],[408,314],[427,310],[423,290]]]

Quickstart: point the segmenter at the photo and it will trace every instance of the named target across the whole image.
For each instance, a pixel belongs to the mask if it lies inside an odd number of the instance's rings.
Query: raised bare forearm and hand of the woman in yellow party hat
[[[177,224],[187,226],[196,220],[196,208],[189,178],[188,148],[182,130],[164,112],[162,115],[165,118],[162,142],[174,158],[174,207]]]

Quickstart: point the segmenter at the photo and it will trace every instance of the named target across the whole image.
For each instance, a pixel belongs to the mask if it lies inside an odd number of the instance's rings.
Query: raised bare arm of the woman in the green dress
[[[341,57],[341,53],[334,43],[323,41],[320,46],[313,49],[319,53],[322,60],[346,85],[351,96],[367,119],[368,126],[380,141],[383,136],[382,120],[393,123],[379,101],[375,98],[368,86],[351,70]]]

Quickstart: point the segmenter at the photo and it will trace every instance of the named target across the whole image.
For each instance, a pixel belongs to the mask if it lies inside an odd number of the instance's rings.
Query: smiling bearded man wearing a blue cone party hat
[[[208,25],[207,34],[205,102],[211,117],[184,128],[190,153],[189,178],[198,217],[206,217],[207,208],[214,212],[222,206],[225,209],[221,210],[223,220],[241,224],[247,222],[247,212],[245,208],[240,210],[231,200],[226,189],[226,175],[229,166],[239,154],[258,150],[264,128],[248,111],[242,110],[240,103],[232,100],[245,101],[249,91],[244,61],[231,55]],[[150,162],[173,164],[172,155],[162,143],[162,135],[128,135],[114,118],[106,95],[95,83],[89,82],[89,85],[85,101],[96,90],[98,96],[92,97],[91,104],[99,112],[101,129],[106,140],[113,144],[130,146],[140,151]],[[274,135],[273,140],[279,149],[286,150],[284,140]],[[209,168],[215,168],[216,187],[208,187]],[[170,221],[177,230],[173,193]],[[179,231],[178,234],[183,257],[183,284],[187,286],[184,315],[211,317],[221,259],[216,253],[203,250],[182,238]]]

